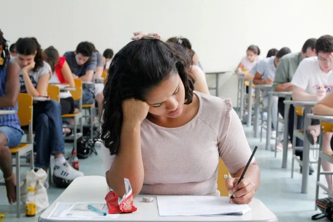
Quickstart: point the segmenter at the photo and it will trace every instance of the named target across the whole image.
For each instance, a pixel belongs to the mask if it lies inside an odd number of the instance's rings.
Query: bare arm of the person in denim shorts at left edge
[[[6,93],[0,96],[0,109],[14,107],[20,93],[20,67],[17,63],[10,62],[6,68]]]

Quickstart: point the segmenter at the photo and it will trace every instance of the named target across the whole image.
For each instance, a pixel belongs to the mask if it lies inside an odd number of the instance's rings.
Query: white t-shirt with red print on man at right
[[[297,67],[291,84],[311,95],[315,95],[319,86],[322,85],[325,87],[326,93],[328,93],[333,89],[333,71],[322,72],[316,56],[305,58]]]

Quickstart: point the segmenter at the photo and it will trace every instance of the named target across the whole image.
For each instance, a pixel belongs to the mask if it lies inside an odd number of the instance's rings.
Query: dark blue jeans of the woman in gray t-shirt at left
[[[55,100],[34,103],[36,167],[48,168],[51,154],[64,153],[61,106]]]

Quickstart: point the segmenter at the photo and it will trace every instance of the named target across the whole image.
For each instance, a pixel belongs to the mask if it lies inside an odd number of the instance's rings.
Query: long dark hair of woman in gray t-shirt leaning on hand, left
[[[35,55],[35,68],[33,69],[34,72],[36,72],[38,69],[43,67],[43,52],[41,49],[41,45],[39,45],[37,39],[35,37],[26,37],[26,38],[20,38],[16,42],[16,51],[18,54],[29,56],[29,55]]]

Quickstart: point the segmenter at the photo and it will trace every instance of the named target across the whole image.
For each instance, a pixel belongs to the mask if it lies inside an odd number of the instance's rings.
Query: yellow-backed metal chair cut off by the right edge
[[[318,170],[317,170],[317,182],[315,187],[315,200],[318,199],[319,195],[319,187],[324,189],[329,195],[333,194],[331,190],[328,189],[323,183],[319,181],[320,175],[333,175],[333,172],[321,171],[321,158],[327,160],[331,164],[333,164],[333,156],[322,151],[322,136],[325,132],[333,132],[333,123],[320,122],[320,137],[319,137],[319,155],[318,155]],[[317,205],[315,204],[315,209],[317,209]]]

